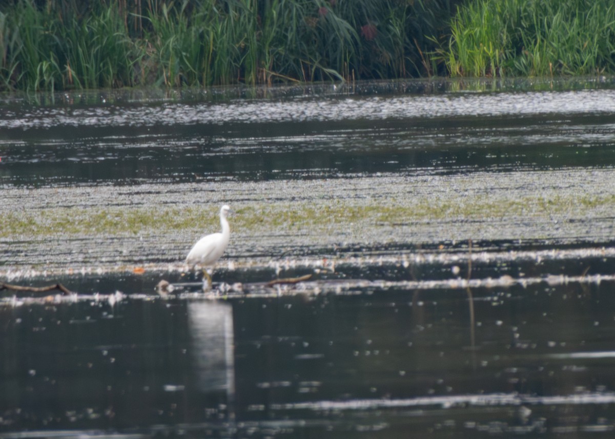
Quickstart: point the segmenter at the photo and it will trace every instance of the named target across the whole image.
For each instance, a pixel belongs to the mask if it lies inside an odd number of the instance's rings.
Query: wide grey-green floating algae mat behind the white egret
[[[347,249],[445,251],[458,242],[608,246],[615,170],[468,175],[355,175],[336,179],[133,186],[4,188],[0,275],[183,271],[228,203],[231,243],[220,266],[336,258]],[[477,248],[480,250],[480,248]]]

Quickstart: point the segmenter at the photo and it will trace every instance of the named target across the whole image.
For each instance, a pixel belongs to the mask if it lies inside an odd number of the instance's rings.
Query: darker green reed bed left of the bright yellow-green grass
[[[0,90],[445,73],[435,49],[457,3],[9,0],[0,2]]]

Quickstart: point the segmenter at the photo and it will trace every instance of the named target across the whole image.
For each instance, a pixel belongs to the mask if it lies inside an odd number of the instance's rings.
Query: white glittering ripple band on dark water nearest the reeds
[[[567,92],[443,93],[362,99],[303,97],[220,103],[159,102],[157,105],[38,108],[1,119],[0,129],[37,127],[130,127],[194,124],[327,122],[339,120],[480,117],[539,114],[612,114],[615,90]]]

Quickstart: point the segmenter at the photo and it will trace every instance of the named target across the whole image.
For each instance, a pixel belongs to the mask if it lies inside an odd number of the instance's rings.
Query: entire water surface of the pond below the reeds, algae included
[[[0,282],[75,293],[0,291],[0,437],[610,437],[614,113],[608,78],[2,98]]]

